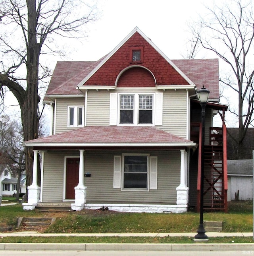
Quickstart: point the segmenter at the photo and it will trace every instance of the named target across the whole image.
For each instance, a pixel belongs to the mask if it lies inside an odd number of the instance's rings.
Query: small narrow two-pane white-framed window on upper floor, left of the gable
[[[68,127],[84,126],[84,106],[68,107]]]

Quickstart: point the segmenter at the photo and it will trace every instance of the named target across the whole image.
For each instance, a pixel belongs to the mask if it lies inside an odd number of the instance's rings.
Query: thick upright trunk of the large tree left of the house
[[[40,45],[37,43],[36,0],[27,0],[28,13],[28,47],[27,47],[27,89],[24,103],[21,106],[21,119],[24,141],[38,138],[38,66]],[[29,124],[29,125],[28,125]],[[25,148],[25,169],[27,186],[32,183],[33,149]]]

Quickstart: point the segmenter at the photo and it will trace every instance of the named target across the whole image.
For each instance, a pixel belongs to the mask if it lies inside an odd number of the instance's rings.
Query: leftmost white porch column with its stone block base
[[[38,202],[40,202],[40,187],[37,184],[38,173],[38,150],[34,150],[33,157],[33,180],[31,186],[28,186],[28,200],[27,203],[23,203],[24,210],[33,210]]]

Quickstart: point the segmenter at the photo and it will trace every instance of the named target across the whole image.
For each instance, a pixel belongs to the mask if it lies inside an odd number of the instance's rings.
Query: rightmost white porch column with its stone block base
[[[187,187],[187,152],[180,149],[181,152],[181,169],[180,169],[180,185],[177,190],[177,205],[186,205],[189,203],[189,188]]]

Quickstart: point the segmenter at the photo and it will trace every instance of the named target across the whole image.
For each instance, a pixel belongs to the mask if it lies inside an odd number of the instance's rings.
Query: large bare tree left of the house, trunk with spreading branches
[[[25,141],[38,138],[39,81],[49,76],[40,56],[62,54],[57,40],[84,37],[80,29],[96,19],[96,6],[83,0],[0,0],[0,96],[4,99],[8,89],[16,97]],[[25,149],[25,159],[30,185],[31,148]]]

